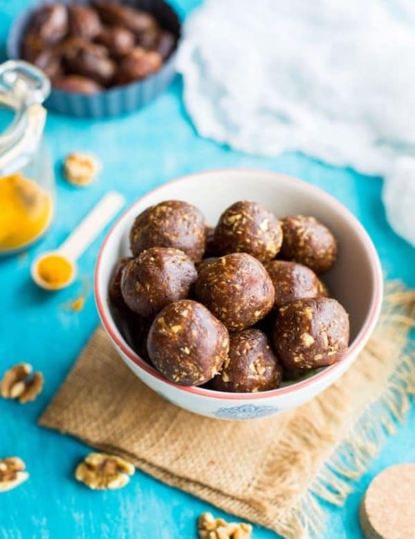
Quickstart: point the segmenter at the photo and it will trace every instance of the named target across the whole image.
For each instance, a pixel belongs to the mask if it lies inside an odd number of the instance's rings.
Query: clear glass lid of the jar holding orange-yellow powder
[[[21,60],[0,65],[0,108],[14,114],[0,133],[0,175],[23,168],[36,153],[46,121],[42,102],[49,93],[49,79],[35,66]]]

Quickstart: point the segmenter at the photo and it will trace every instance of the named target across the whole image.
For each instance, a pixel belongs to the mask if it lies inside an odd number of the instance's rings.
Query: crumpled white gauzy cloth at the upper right
[[[412,0],[206,0],[185,24],[178,70],[201,135],[387,176],[387,216],[415,245],[415,161],[405,174],[396,164],[415,155]]]

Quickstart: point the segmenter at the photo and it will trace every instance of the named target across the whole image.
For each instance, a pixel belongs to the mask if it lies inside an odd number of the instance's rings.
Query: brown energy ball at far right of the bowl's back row
[[[281,255],[315,273],[327,272],[335,263],[337,242],[331,231],[314,217],[296,215],[281,220]]]

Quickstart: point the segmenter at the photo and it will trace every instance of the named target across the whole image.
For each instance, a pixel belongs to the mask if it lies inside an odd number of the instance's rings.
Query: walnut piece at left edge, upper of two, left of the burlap
[[[0,383],[3,399],[19,400],[20,404],[34,401],[44,387],[42,372],[35,372],[29,363],[17,363],[7,370]]]

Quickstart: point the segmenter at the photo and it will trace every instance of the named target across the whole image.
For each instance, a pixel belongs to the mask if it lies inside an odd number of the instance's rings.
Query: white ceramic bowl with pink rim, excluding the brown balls
[[[255,200],[277,216],[308,214],[322,220],[339,243],[338,261],[324,275],[333,296],[350,315],[351,342],[341,361],[312,377],[263,393],[222,393],[183,387],[163,378],[124,341],[113,321],[107,290],[113,268],[129,254],[129,229],[134,218],[163,200],[185,200],[203,211],[211,225],[237,200]],[[252,419],[303,404],[333,384],[369,339],[382,302],[382,271],[371,239],[358,220],[324,191],[281,174],[229,169],[191,174],[154,189],[120,217],[104,240],[95,267],[95,300],[105,330],[129,368],[151,389],[191,412],[221,419]]]

